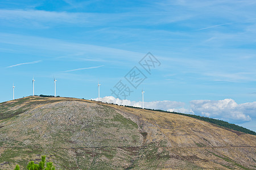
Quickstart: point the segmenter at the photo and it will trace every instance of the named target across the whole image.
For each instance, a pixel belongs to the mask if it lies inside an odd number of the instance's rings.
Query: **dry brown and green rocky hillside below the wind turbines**
[[[0,169],[256,169],[256,136],[192,117],[64,97],[0,104]]]

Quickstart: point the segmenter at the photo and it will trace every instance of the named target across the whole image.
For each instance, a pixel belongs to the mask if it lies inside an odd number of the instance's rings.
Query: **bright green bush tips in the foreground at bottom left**
[[[46,156],[42,156],[41,162],[39,164],[35,164],[34,161],[31,161],[27,165],[28,170],[55,170],[52,162],[46,163]],[[14,170],[19,170],[19,165],[16,165]]]

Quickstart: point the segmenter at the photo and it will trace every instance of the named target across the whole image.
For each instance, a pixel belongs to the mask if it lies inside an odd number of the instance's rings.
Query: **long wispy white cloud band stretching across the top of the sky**
[[[73,6],[74,8],[79,7]],[[168,12],[149,11],[143,9],[142,12],[118,12],[118,13],[101,13],[101,12],[67,12],[67,11],[44,11],[44,10],[9,10],[0,9],[1,22],[16,27],[39,27],[49,28],[54,25],[62,24],[76,24],[80,27],[93,27],[98,25],[156,25],[164,23],[180,22],[188,20],[191,15],[183,14],[176,16],[169,16]],[[154,22],[152,22],[154,20]],[[128,22],[129,21],[129,22]],[[30,24],[28,24],[30,23]],[[31,24],[32,23],[32,24]]]

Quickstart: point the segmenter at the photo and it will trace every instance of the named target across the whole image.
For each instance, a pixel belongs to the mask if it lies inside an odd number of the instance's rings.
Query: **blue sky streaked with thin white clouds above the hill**
[[[220,118],[256,131],[255,1],[1,1],[0,102],[32,94]],[[139,61],[151,52],[151,74]],[[133,88],[134,66],[147,77]],[[127,100],[112,94],[122,80]],[[113,97],[114,98],[113,98]]]

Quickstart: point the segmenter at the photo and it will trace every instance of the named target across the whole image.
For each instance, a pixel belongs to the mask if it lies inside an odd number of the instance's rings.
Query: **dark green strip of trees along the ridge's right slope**
[[[137,108],[137,109],[141,109],[138,107],[132,107],[129,105],[124,105],[124,107],[129,107],[129,108]],[[210,122],[212,124],[224,127],[224,128],[228,128],[228,129],[232,129],[232,130],[237,130],[237,131],[241,131],[243,133],[247,133],[247,134],[252,134],[252,135],[256,135],[255,131],[243,128],[242,126],[238,126],[235,124],[230,124],[229,122],[226,121],[222,121],[222,120],[218,120],[218,119],[214,119],[214,118],[209,118],[209,117],[204,117],[204,116],[197,116],[195,114],[185,114],[185,113],[177,113],[177,112],[168,112],[168,111],[162,111],[162,110],[155,110],[155,109],[147,109],[149,111],[158,111],[158,112],[165,112],[165,113],[173,113],[173,114],[180,114],[183,116],[188,116],[188,117],[193,117],[193,118],[197,118],[199,120],[205,121],[205,122]]]

